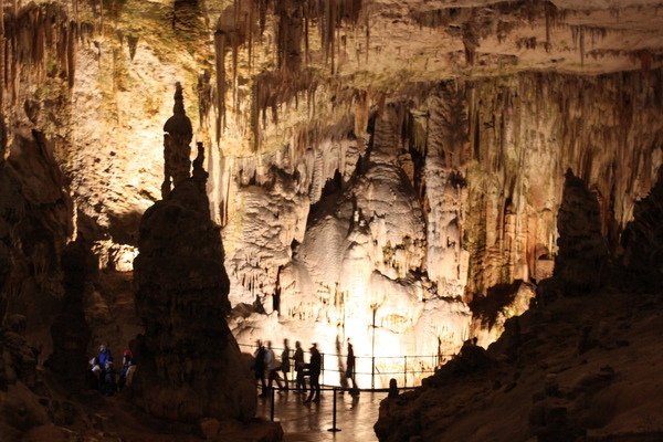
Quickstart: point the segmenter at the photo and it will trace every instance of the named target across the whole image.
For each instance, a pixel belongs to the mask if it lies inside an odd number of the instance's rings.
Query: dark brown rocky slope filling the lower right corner
[[[603,290],[509,319],[380,404],[380,441],[657,441],[661,297]],[[580,438],[580,439],[578,439]]]

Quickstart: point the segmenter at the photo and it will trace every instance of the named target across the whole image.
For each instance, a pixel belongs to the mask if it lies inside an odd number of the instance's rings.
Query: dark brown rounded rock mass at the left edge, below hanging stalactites
[[[60,256],[72,234],[72,201],[38,131],[14,134],[0,158],[0,318],[25,316],[25,335],[48,356],[53,311],[64,293]]]

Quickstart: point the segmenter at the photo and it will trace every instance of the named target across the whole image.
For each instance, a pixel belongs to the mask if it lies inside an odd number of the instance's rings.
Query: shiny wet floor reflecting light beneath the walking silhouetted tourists
[[[378,420],[380,401],[386,392],[364,391],[352,400],[348,393],[337,396],[336,427],[330,432],[334,396],[324,391],[319,403],[302,403],[304,394],[277,392],[274,398],[274,420],[281,423],[286,442],[313,441],[377,441],[372,425]],[[270,419],[270,400],[259,399],[257,415]]]

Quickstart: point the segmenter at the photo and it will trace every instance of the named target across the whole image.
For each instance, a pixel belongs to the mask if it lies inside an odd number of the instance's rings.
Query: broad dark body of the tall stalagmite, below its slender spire
[[[134,269],[145,333],[134,346],[136,400],[161,418],[248,420],[255,388],[224,319],[229,280],[219,227],[210,220],[201,145],[198,155],[193,177],[176,180],[140,222]]]

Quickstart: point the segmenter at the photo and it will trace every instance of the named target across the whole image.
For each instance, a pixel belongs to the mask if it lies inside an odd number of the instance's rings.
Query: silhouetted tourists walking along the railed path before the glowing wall
[[[316,343],[313,343],[308,349],[311,354],[308,362],[304,361],[304,350],[302,349],[302,344],[298,340],[295,343],[295,351],[291,357],[290,343],[287,339],[283,339],[281,360],[276,358],[271,340],[267,340],[264,345],[261,340],[256,340],[255,344],[256,350],[253,354],[253,370],[255,372],[256,381],[260,381],[261,398],[267,397],[267,393],[273,389],[274,382],[276,382],[280,391],[290,390],[288,375],[293,368],[291,366],[292,360],[294,361],[295,370],[295,392],[306,394],[306,392],[309,391],[308,397],[304,400],[304,403],[319,402],[323,356],[320,355]],[[355,354],[349,339],[346,362],[345,377],[350,379],[352,382],[350,392],[352,394],[358,394],[359,389],[357,388],[357,382],[355,381]],[[283,375],[283,379],[281,378],[281,373]],[[306,378],[308,378],[308,388],[306,387]]]

